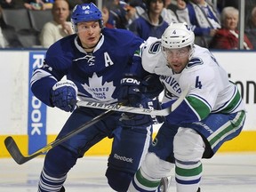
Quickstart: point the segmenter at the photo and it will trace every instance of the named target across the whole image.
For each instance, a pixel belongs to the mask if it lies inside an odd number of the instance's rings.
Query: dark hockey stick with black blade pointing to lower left
[[[54,147],[60,145],[60,143],[64,142],[65,140],[68,140],[69,138],[73,137],[77,133],[84,131],[86,128],[92,126],[92,124],[98,123],[100,120],[102,120],[106,116],[109,116],[113,112],[114,112],[113,110],[105,111],[104,113],[100,114],[100,116],[96,116],[96,117],[92,118],[91,121],[86,122],[85,124],[82,124],[81,126],[77,127],[74,131],[69,132],[67,135],[65,135],[57,140],[52,141],[51,143],[44,146],[44,148],[37,150],[35,153],[33,153],[32,155],[29,155],[29,156],[23,156],[21,154],[20,148],[17,146],[15,140],[13,140],[13,138],[11,136],[7,137],[4,140],[4,145],[17,164],[24,164],[24,163],[28,162],[29,160],[35,158],[36,156],[40,156],[40,155],[44,154],[51,148],[54,148]]]

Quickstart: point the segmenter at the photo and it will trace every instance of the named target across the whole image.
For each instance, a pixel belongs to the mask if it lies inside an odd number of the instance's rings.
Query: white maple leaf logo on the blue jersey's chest
[[[115,91],[116,87],[113,85],[113,82],[102,82],[102,76],[97,76],[96,73],[93,73],[92,78],[89,78],[89,85],[82,84],[84,90],[89,92],[92,95],[92,98],[100,101],[114,100],[112,94]]]

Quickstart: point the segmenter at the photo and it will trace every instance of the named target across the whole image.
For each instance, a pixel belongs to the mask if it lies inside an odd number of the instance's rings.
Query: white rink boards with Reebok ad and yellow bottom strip
[[[244,131],[227,142],[220,151],[256,151],[256,54],[255,52],[212,52],[230,80],[243,95],[247,109]],[[69,114],[58,108],[48,108],[30,92],[33,69],[43,64],[45,50],[0,51],[1,57],[1,122],[0,157],[9,156],[4,147],[8,135],[17,141],[24,154],[31,154],[54,140]],[[155,133],[158,126],[156,126]],[[88,155],[107,155],[112,140],[102,140]]]

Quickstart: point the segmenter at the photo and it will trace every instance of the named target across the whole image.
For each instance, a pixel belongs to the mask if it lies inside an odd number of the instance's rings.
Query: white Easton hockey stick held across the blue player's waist
[[[85,108],[99,108],[99,109],[108,109],[118,112],[125,113],[134,113],[134,114],[143,114],[150,116],[168,116],[173,110],[180,106],[180,103],[185,99],[188,94],[188,89],[181,92],[181,95],[178,100],[176,100],[170,108],[164,108],[161,110],[151,109],[151,108],[133,108],[128,106],[123,106],[119,104],[103,104],[94,101],[77,101],[76,106],[85,107]]]

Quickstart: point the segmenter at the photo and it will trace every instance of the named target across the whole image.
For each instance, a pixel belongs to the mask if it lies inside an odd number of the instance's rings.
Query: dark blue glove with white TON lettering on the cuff
[[[142,93],[140,91],[140,79],[132,74],[126,74],[121,79],[118,102],[135,107],[140,103]]]

